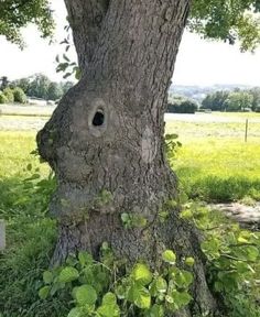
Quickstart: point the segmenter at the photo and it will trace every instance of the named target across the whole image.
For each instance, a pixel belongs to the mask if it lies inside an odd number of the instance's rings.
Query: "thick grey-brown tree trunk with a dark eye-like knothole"
[[[51,203],[59,221],[54,261],[79,249],[98,255],[108,241],[118,256],[156,266],[171,248],[196,260],[194,303],[182,316],[215,311],[195,230],[177,210],[160,221],[177,193],[163,114],[191,1],[65,2],[83,77],[37,135],[58,179]],[[143,226],[126,229],[122,214]]]

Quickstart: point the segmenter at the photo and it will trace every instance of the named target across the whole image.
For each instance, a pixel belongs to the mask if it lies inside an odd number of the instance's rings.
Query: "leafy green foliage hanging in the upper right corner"
[[[259,0],[195,0],[188,21],[189,31],[206,39],[253,51],[260,43]]]

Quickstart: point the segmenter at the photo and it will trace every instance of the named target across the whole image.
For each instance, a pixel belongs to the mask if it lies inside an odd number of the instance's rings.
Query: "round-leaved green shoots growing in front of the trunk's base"
[[[43,300],[69,294],[68,317],[163,317],[188,305],[193,283],[189,271],[176,266],[172,250],[162,254],[162,272],[151,271],[145,263],[137,263],[126,274],[123,261],[113,258],[112,250],[105,242],[101,260],[97,262],[87,252],[72,255],[66,263],[43,273],[44,286],[39,291]],[[194,265],[192,258],[185,265]],[[123,270],[123,271],[124,271]]]

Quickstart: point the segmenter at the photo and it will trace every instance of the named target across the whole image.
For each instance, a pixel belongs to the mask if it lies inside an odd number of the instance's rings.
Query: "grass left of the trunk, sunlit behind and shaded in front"
[[[53,181],[36,178],[40,174],[45,178],[48,167],[30,154],[34,136],[0,132],[0,219],[7,222],[7,250],[0,253],[1,317],[54,316],[54,306],[39,309],[43,304],[37,288],[50,263],[56,226],[46,217]]]

